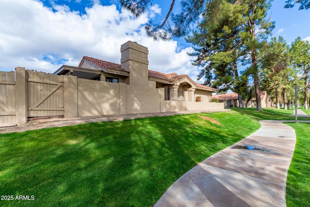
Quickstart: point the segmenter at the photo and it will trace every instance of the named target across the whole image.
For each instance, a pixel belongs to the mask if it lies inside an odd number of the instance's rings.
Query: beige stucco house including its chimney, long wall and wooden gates
[[[78,66],[62,65],[54,74],[25,67],[2,71],[9,101],[0,102],[0,126],[52,117],[224,110],[223,103],[212,102],[217,89],[188,75],[149,70],[148,54],[128,41],[121,46],[121,64],[84,56]]]

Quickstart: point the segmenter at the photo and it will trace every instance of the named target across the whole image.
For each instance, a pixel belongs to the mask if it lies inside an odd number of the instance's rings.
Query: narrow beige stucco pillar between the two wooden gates
[[[16,125],[27,123],[27,75],[24,67],[15,68]]]

